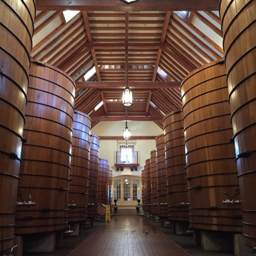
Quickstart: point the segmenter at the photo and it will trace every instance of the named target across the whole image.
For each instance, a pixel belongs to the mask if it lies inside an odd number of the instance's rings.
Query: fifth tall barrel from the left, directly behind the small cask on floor
[[[108,204],[108,160],[99,158],[98,205]]]

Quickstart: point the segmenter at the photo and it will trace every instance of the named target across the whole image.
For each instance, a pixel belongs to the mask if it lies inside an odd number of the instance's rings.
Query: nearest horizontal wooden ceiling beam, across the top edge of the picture
[[[151,10],[219,10],[219,0],[143,0],[124,4],[119,0],[37,0],[37,10],[108,10],[140,12]]]

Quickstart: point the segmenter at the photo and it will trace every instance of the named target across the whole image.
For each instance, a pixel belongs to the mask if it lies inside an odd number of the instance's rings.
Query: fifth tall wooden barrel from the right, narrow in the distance
[[[150,152],[150,176],[152,215],[158,215],[157,154],[155,150]]]

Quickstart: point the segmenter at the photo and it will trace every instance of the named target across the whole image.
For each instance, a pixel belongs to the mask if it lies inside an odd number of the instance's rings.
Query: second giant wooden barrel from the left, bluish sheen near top
[[[68,226],[75,85],[46,63],[32,61],[16,207],[16,234]],[[32,201],[27,207],[23,202]]]

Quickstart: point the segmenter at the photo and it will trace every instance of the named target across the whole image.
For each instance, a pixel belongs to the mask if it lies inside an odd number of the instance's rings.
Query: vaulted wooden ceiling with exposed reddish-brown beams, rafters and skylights
[[[31,56],[73,77],[75,109],[92,127],[128,119],[162,128],[163,116],[182,108],[182,79],[224,55],[218,0],[37,0],[36,7]],[[80,10],[68,23],[67,9]],[[131,107],[121,104],[126,85]]]

